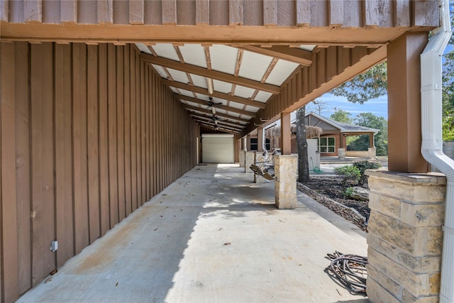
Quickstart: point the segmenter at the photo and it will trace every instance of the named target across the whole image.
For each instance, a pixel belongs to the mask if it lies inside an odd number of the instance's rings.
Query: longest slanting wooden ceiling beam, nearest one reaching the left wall
[[[218,72],[216,70],[208,70],[204,67],[198,67],[196,65],[189,65],[186,63],[178,62],[175,60],[166,59],[163,57],[156,57],[145,53],[140,53],[140,60],[144,62],[160,65],[162,67],[172,68],[173,70],[179,70],[182,72],[189,72],[190,74],[199,75],[201,77],[209,77],[219,81],[241,85],[243,87],[250,87],[251,89],[259,89],[263,92],[270,92],[272,94],[280,94],[281,88],[272,85],[260,83],[251,79],[243,77],[235,77],[234,75],[226,74],[225,72]]]

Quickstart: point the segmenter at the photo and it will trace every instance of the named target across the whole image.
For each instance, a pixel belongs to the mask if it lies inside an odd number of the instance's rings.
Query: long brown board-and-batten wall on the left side
[[[1,43],[0,118],[1,302],[196,165],[198,126],[134,45]]]

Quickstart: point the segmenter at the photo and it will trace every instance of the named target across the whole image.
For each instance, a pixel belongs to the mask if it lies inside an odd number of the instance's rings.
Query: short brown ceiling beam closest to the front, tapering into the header
[[[238,48],[249,50],[253,53],[268,55],[278,59],[287,60],[300,65],[309,66],[312,64],[312,53],[300,48],[289,48],[284,45],[272,45],[270,48],[260,48],[255,45],[241,45]]]

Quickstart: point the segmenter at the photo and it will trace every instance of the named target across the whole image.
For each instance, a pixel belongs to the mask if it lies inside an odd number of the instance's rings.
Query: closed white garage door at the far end
[[[204,133],[201,138],[202,162],[233,163],[233,135]]]

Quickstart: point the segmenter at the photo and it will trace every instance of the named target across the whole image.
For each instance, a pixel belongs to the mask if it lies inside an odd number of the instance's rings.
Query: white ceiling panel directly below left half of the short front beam
[[[267,72],[271,62],[272,57],[245,50],[243,52],[243,60],[241,60],[238,76],[260,81],[262,80],[263,75],[265,75],[265,72]]]

